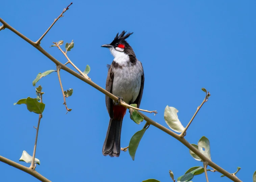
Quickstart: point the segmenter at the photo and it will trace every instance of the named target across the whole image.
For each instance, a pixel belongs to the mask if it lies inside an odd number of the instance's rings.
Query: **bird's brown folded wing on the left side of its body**
[[[114,73],[112,72],[112,67],[110,66],[108,69],[107,80],[106,80],[106,90],[110,93],[112,93],[113,80],[114,80]],[[113,118],[113,108],[112,108],[113,101],[108,96],[106,96],[106,106],[107,106],[109,117],[112,119]]]

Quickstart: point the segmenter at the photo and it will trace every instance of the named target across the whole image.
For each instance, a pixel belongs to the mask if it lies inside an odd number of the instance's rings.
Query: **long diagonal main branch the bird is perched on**
[[[80,74],[76,73],[75,71],[71,70],[70,68],[68,68],[67,66],[63,65],[61,62],[59,62],[57,59],[55,59],[53,56],[51,56],[49,53],[47,53],[41,46],[36,45],[33,41],[31,41],[29,38],[27,38],[26,36],[24,36],[23,34],[21,34],[20,32],[18,32],[16,29],[12,28],[10,25],[8,25],[5,21],[3,21],[3,19],[0,18],[0,22],[4,24],[4,26],[6,28],[8,28],[9,30],[11,30],[12,32],[14,32],[15,34],[17,34],[18,36],[20,36],[23,40],[25,40],[26,42],[28,42],[30,45],[32,45],[33,47],[35,47],[37,50],[39,50],[42,54],[44,54],[46,57],[48,57],[51,61],[53,61],[56,65],[59,65],[61,67],[62,70],[67,71],[68,73],[70,73],[71,75],[77,77],[78,79],[84,81],[85,83],[93,86],[94,88],[96,88],[97,90],[99,90],[100,92],[102,92],[103,94],[105,94],[106,96],[110,97],[111,99],[113,99],[114,101],[118,101],[118,98],[116,96],[114,96],[113,94],[107,92],[107,90],[105,90],[104,88],[100,87],[99,85],[97,85],[96,83],[94,83],[92,80],[87,79],[83,76],[81,76]],[[122,102],[121,102],[122,103]],[[138,108],[134,108],[136,110],[138,110]],[[139,111],[138,111],[139,112]],[[179,140],[183,145],[185,145],[188,149],[190,149],[192,152],[194,152],[198,157],[200,157],[203,161],[207,161],[208,165],[215,168],[217,171],[219,171],[221,174],[225,175],[226,177],[228,177],[229,179],[231,179],[234,182],[242,182],[241,180],[239,180],[237,177],[234,177],[233,175],[231,175],[229,172],[227,172],[226,170],[224,170],[223,168],[221,168],[220,166],[218,166],[217,164],[215,164],[214,162],[212,162],[211,160],[209,160],[207,157],[205,157],[201,152],[199,152],[199,150],[197,150],[195,147],[193,147],[191,144],[189,144],[189,142],[184,138],[181,137],[180,135],[172,132],[171,130],[169,130],[168,128],[165,128],[164,126],[156,123],[155,121],[151,120],[150,118],[148,118],[145,114],[139,112],[140,115],[143,116],[144,120],[147,121],[150,125],[153,125],[155,127],[157,127],[158,129],[164,131],[165,133],[171,135],[172,137],[176,138],[177,140]]]

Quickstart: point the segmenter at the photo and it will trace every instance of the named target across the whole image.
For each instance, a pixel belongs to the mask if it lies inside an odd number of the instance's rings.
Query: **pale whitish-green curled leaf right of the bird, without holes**
[[[178,119],[177,112],[179,111],[176,108],[167,105],[164,109],[164,120],[172,130],[181,133],[185,128]]]

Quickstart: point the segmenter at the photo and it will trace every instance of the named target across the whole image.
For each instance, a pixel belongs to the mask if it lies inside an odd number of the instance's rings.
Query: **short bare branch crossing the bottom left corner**
[[[36,172],[35,170],[32,170],[31,168],[29,167],[26,167],[24,165],[21,165],[19,163],[16,163],[12,160],[9,160],[5,157],[2,157],[0,156],[0,161],[3,162],[3,163],[6,163],[12,167],[15,167],[21,171],[24,171],[25,173],[28,173],[30,174],[31,176],[35,177],[36,179],[40,180],[40,181],[43,181],[43,182],[51,182],[50,180],[48,180],[47,178],[45,178],[44,176],[42,176],[40,173]]]

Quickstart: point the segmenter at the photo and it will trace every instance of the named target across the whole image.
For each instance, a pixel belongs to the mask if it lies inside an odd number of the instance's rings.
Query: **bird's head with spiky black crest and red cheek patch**
[[[132,33],[127,33],[125,35],[126,31],[122,31],[122,33],[117,33],[116,37],[110,44],[104,44],[101,47],[107,47],[109,48],[110,52],[112,55],[115,57],[115,55],[124,53],[124,54],[129,54],[129,55],[134,55],[134,52],[132,50],[132,47],[128,44],[128,42],[125,40],[128,38]]]

